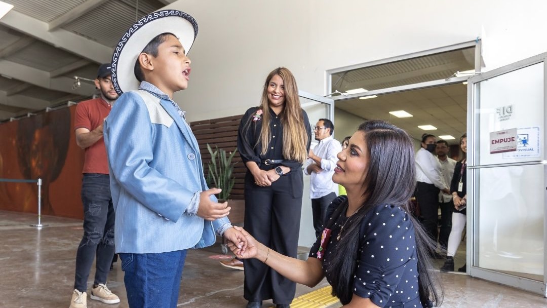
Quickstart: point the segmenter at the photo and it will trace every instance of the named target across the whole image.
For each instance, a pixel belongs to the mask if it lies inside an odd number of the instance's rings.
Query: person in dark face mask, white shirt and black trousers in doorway
[[[416,153],[416,201],[420,207],[420,222],[434,242],[437,242],[439,191],[450,194],[439,160],[433,154],[437,140],[429,133],[422,135],[422,147]],[[433,257],[440,258],[437,253]]]

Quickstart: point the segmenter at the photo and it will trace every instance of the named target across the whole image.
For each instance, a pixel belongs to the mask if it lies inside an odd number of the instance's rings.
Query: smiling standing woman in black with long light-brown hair
[[[296,257],[304,176],[301,167],[311,143],[307,114],[300,108],[293,74],[284,67],[266,78],[260,106],[241,119],[237,149],[247,167],[245,228],[260,242]],[[245,260],[243,296],[247,308],[272,299],[288,307],[296,284],[258,260]]]

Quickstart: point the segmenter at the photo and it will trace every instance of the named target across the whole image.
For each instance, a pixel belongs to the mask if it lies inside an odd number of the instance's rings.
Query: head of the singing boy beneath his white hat
[[[139,57],[147,55],[149,61],[148,67],[145,63],[145,68],[150,69],[146,74],[147,82],[170,97],[176,91],[187,89],[191,61],[185,52],[181,42],[170,34],[159,45],[157,57],[142,53]]]

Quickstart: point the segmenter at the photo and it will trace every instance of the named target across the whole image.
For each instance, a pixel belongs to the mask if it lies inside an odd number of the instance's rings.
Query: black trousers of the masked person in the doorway
[[[433,184],[418,182],[416,201],[420,207],[420,222],[433,242],[437,242],[439,221],[439,191]]]

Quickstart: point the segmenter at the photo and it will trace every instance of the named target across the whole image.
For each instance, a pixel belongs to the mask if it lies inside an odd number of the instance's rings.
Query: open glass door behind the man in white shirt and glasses
[[[310,123],[306,124],[313,127],[319,119],[329,119],[334,122],[334,101],[331,98],[304,91],[298,91],[298,95],[300,96],[300,106],[306,111],[310,120]],[[336,126],[336,123],[334,125]],[[317,144],[313,130],[310,138],[312,142],[311,146],[313,147]],[[310,200],[310,177],[304,175],[304,194],[302,195],[302,216],[300,218],[298,246],[311,247],[315,240]],[[307,259],[307,252],[302,254],[302,259]]]

